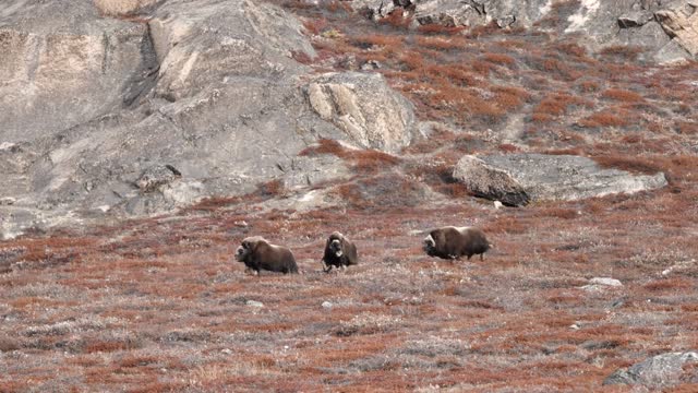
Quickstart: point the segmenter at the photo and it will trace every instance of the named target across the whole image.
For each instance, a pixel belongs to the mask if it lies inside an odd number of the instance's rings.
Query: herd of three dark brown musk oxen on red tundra
[[[493,246],[481,229],[473,227],[446,226],[432,229],[423,240],[422,248],[430,257],[447,260],[480,255]],[[260,271],[279,273],[299,273],[296,258],[291,250],[284,246],[269,243],[261,236],[248,237],[236,250],[236,260],[245,265],[245,272],[260,274]],[[329,273],[333,267],[347,269],[359,263],[359,253],[353,241],[335,231],[325,243],[322,264],[323,271]]]

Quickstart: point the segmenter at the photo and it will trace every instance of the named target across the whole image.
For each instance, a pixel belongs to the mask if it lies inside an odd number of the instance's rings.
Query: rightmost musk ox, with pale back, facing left
[[[424,238],[424,251],[430,257],[443,259],[460,259],[467,255],[480,254],[483,260],[484,253],[492,248],[484,233],[471,227],[442,227],[433,229]]]

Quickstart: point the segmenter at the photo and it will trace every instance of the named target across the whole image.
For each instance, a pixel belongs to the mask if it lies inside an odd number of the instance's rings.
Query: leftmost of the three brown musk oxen
[[[280,273],[298,273],[293,253],[286,247],[270,245],[261,236],[244,238],[236,250],[236,260],[248,270],[260,274],[260,270]]]

